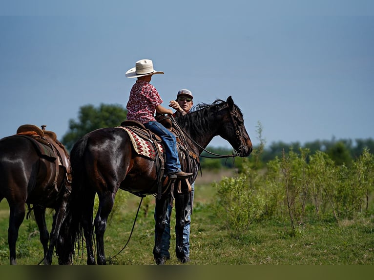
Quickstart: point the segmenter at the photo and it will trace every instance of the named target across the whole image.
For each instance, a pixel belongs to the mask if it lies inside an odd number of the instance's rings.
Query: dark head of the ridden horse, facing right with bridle
[[[216,114],[221,120],[218,134],[229,141],[240,157],[248,157],[252,152],[252,142],[244,126],[243,114],[234,104],[231,96],[223,105],[216,108]]]

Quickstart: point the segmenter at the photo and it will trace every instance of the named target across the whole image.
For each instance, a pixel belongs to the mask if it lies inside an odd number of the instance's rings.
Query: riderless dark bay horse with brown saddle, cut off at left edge
[[[34,125],[21,127],[32,127],[35,131],[30,130],[28,133],[23,129],[21,135],[0,140],[0,201],[5,198],[10,208],[9,260],[10,264],[17,264],[16,242],[26,213],[25,204],[28,204],[29,207],[32,205],[31,209],[34,210],[38,224],[44,264],[51,264],[70,193],[70,180],[67,178],[70,173],[69,156],[61,142],[56,139],[54,132],[42,130]],[[38,146],[39,142],[41,146]],[[50,236],[45,221],[46,208],[53,208],[56,211]]]

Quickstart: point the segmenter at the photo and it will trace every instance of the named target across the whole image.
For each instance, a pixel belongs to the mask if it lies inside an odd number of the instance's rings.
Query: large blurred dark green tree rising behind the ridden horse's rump
[[[99,107],[84,105],[79,110],[78,120],[69,120],[69,130],[61,142],[70,151],[74,143],[86,133],[98,128],[118,126],[126,116],[127,111],[119,104],[102,103]]]

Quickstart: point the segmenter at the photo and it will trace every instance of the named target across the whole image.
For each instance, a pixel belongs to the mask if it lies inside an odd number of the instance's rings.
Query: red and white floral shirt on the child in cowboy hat
[[[127,120],[137,120],[141,123],[155,121],[156,107],[163,102],[153,85],[143,80],[136,80],[126,105]]]

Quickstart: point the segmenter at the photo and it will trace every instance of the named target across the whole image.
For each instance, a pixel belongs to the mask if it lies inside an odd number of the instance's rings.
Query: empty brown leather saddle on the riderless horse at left
[[[71,167],[67,150],[62,143],[57,140],[57,135],[53,131],[45,130],[46,125],[42,125],[42,129],[33,124],[21,125],[15,136],[24,137],[34,144],[34,148],[38,155],[45,160],[55,162],[56,174],[54,186],[57,192],[57,178],[59,177],[59,167],[62,166],[65,173],[65,186],[71,185]]]

